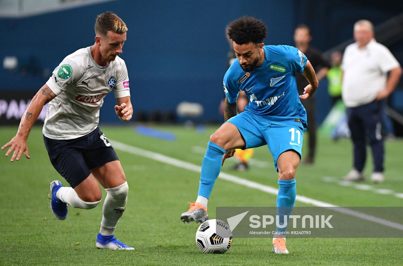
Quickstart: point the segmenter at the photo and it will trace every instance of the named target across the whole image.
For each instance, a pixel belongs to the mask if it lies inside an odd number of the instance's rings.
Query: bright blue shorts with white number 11
[[[243,136],[246,147],[255,148],[263,145],[268,146],[273,155],[274,167],[278,171],[277,159],[285,151],[296,151],[299,159],[302,156],[303,132],[301,127],[294,125],[276,125],[260,120],[256,116],[244,111],[226,121],[234,124]]]

